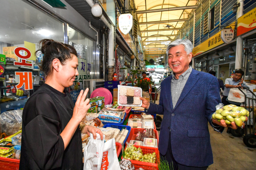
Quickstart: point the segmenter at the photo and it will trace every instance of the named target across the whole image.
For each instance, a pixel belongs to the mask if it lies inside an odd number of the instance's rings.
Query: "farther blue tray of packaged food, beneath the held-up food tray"
[[[99,119],[102,122],[120,123],[122,119],[124,119],[124,116],[125,111],[113,111],[103,108],[103,110],[99,112]]]

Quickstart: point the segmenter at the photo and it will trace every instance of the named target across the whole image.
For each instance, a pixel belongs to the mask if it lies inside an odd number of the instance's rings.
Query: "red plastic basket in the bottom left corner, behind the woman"
[[[19,170],[20,159],[3,158],[0,157],[0,169],[1,170]]]

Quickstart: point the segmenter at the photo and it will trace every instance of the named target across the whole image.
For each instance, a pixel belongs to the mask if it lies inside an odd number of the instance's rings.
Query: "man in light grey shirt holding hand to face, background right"
[[[228,101],[227,97],[228,97],[228,93],[230,92],[231,88],[237,88],[237,87],[241,87],[241,86],[245,86],[248,87],[246,85],[246,83],[243,80],[244,76],[244,71],[243,70],[235,70],[235,73],[233,75],[233,78],[227,78],[225,80],[225,89],[223,92],[223,98],[221,100],[221,102],[223,103],[223,105],[230,105],[230,104],[234,104],[236,106],[240,106],[241,103],[237,103],[237,102],[233,102],[233,101]],[[249,88],[249,87],[248,87]],[[227,133],[231,133],[231,128],[227,128]]]

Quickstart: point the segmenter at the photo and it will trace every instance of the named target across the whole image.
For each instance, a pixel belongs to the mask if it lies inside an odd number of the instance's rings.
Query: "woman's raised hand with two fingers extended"
[[[72,118],[75,119],[76,121],[79,121],[79,123],[81,122],[82,119],[84,119],[88,109],[90,108],[89,98],[85,100],[85,97],[88,91],[89,91],[88,88],[85,89],[85,92],[81,90],[79,96],[77,97],[76,105],[74,107]]]

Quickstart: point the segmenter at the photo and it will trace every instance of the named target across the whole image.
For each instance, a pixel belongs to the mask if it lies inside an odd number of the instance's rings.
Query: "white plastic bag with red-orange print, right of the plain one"
[[[104,152],[102,157],[102,165],[100,170],[121,170],[117,154],[116,154],[116,141],[110,139],[104,144]]]

